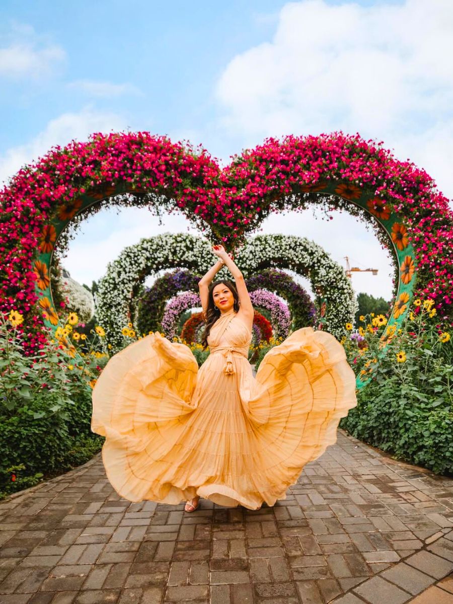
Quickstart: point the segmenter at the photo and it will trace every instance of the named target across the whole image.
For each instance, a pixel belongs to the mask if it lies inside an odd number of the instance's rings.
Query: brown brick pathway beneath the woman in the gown
[[[0,502],[0,604],[453,604],[453,480],[342,431],[272,508],[183,507],[100,455]]]

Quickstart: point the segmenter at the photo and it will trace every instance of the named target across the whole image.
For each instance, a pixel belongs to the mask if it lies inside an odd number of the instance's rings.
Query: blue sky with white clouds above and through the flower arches
[[[384,141],[451,199],[452,55],[451,0],[2,0],[0,181],[92,132],[149,130],[226,165],[269,136],[342,130]],[[390,300],[388,252],[363,223],[333,216],[273,215],[262,232],[378,269],[353,274],[353,288]],[[125,245],[186,230],[181,216],[159,225],[143,209],[106,208],[63,266],[91,284]]]

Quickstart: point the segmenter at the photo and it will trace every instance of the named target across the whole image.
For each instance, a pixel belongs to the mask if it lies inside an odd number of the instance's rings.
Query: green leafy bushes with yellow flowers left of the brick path
[[[50,336],[25,356],[23,338],[0,317],[0,496],[84,463],[103,442],[90,429],[89,382],[106,358],[73,358],[66,338]]]

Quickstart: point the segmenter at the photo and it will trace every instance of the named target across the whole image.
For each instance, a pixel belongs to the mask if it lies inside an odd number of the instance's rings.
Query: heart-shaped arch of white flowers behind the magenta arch
[[[341,265],[316,243],[303,237],[258,235],[236,255],[235,262],[245,278],[266,268],[289,269],[309,278],[318,296],[318,316],[321,301],[326,301],[326,314],[320,320],[322,329],[336,338],[344,335],[346,323],[353,323],[357,303],[351,284]],[[164,233],[125,248],[117,260],[109,263],[95,295],[98,321],[106,332],[104,345],[111,344],[110,352],[115,353],[129,343],[121,329],[133,322],[133,300],[148,275],[172,268],[187,268],[203,275],[215,261],[211,243],[187,233]],[[228,269],[219,271],[218,278],[231,278]]]

